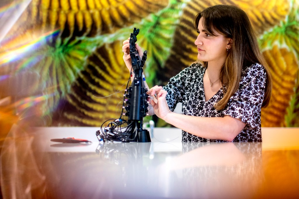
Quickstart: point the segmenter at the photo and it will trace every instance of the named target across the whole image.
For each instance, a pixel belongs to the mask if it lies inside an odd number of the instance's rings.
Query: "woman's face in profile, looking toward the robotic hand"
[[[216,36],[207,34],[202,26],[202,18],[199,20],[197,31],[199,34],[194,42],[198,51],[197,58],[208,63],[222,65],[227,57],[226,48],[231,46],[231,39],[225,38],[216,31],[214,32]]]

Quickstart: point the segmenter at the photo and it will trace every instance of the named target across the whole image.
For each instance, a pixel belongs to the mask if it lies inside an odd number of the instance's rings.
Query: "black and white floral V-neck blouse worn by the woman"
[[[241,118],[246,124],[233,142],[261,142],[261,105],[266,85],[265,68],[255,63],[242,70],[242,77],[237,92],[231,96],[223,110],[216,110],[213,105],[223,98],[222,88],[208,101],[205,101],[203,76],[206,68],[194,63],[171,78],[164,90],[171,111],[177,103],[182,103],[182,114],[201,117],[223,117],[229,115]],[[224,142],[201,138],[182,131],[182,142]]]

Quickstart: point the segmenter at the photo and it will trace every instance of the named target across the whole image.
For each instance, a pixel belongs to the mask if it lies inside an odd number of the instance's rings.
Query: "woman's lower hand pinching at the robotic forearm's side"
[[[163,90],[161,86],[154,86],[149,89],[149,94],[152,98],[157,98],[156,102],[151,100],[155,115],[164,119],[168,113],[171,113],[166,101],[167,91]]]

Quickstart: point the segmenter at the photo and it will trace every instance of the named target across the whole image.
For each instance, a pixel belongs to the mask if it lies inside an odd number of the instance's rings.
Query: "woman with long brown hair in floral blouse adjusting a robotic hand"
[[[158,99],[151,100],[153,112],[182,129],[183,142],[262,141],[260,114],[269,104],[271,78],[248,16],[216,5],[200,12],[194,25],[198,60],[163,88],[149,89]],[[131,70],[128,40],[123,44]],[[178,102],[182,114],[172,112]]]

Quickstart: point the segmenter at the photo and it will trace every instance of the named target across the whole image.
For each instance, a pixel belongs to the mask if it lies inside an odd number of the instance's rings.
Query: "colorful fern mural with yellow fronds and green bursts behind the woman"
[[[196,60],[193,19],[216,4],[245,10],[270,65],[262,126],[298,127],[298,0],[1,0],[0,125],[100,126],[118,118],[129,80],[121,46],[133,28],[148,51],[149,86],[164,85]]]

